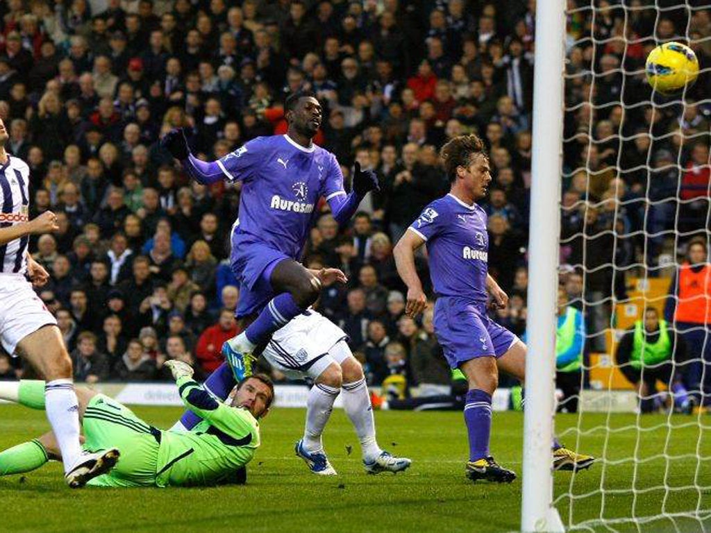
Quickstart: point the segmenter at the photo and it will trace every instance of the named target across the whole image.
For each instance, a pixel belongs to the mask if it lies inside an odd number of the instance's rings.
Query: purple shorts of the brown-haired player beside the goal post
[[[501,357],[518,340],[486,316],[485,304],[450,296],[434,303],[434,333],[451,368],[476,357]]]

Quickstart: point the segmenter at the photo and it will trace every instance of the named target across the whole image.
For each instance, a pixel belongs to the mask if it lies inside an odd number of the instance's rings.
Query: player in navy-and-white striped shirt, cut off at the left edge
[[[57,321],[27,281],[43,286],[49,279],[47,271],[28,254],[27,245],[30,235],[58,230],[57,217],[45,211],[28,220],[30,169],[20,158],[6,153],[8,139],[0,119],[0,340],[6,352],[13,357],[21,355],[47,379],[43,391],[47,419],[62,450],[64,478],[70,487],[78,488],[111,468],[116,451],[82,451],[72,360]]]

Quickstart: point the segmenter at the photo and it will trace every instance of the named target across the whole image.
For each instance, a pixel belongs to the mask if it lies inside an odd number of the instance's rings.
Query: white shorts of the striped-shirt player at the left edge
[[[10,355],[23,338],[43,325],[56,325],[52,313],[32,290],[25,276],[0,275],[0,340]]]

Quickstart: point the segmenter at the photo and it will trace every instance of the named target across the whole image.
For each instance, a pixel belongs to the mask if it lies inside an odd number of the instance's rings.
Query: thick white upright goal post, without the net
[[[535,21],[528,351],[555,353],[560,234],[565,0],[539,0]],[[562,532],[551,473],[555,358],[527,357],[523,422],[523,532]]]

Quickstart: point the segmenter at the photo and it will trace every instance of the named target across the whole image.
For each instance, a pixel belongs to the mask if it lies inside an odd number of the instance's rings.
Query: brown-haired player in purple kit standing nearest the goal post
[[[471,480],[509,483],[515,473],[502,468],[489,455],[491,397],[498,386],[498,372],[525,378],[526,346],[516,335],[486,314],[488,296],[499,308],[508,296],[488,275],[486,212],[476,200],[486,196],[491,182],[488,156],[481,139],[462,135],[442,147],[449,177],[449,194],[430,203],[407,228],[393,253],[397,271],[407,285],[406,313],[424,311],[427,298],[415,269],[415,250],[427,243],[429,271],[437,294],[434,333],[451,368],[459,368],[469,380],[464,421],[469,432]],[[552,332],[551,332],[552,334]],[[579,470],[594,461],[554,442],[553,468]]]

